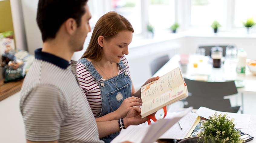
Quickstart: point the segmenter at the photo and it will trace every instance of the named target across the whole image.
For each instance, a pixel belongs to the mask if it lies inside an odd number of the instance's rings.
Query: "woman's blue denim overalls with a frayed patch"
[[[88,70],[88,72],[90,72],[90,74],[93,76],[94,80],[97,83],[99,83],[102,102],[99,117],[117,110],[120,107],[123,100],[131,96],[132,81],[128,76],[126,70],[124,70],[126,69],[126,66],[123,64],[122,60],[120,60],[118,66],[120,71],[124,71],[121,74],[104,81],[102,80],[102,76],[97,72],[92,63],[88,61],[86,58],[82,58],[78,62],[82,63],[84,67]],[[113,140],[117,135],[119,135],[119,132],[116,132],[114,134],[108,135],[100,139],[103,140],[105,143],[108,143],[111,140]]]

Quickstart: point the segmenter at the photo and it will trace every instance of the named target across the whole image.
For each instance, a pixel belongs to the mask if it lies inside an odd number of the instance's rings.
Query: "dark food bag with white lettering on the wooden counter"
[[[24,62],[20,60],[10,61],[5,71],[5,81],[17,81],[25,77]]]

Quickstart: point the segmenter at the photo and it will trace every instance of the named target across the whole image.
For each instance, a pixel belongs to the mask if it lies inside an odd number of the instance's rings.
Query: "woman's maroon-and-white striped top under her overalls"
[[[129,65],[126,57],[123,56],[121,60],[126,66],[126,69],[124,70],[126,70],[130,77]],[[124,70],[121,71],[119,69],[119,74],[121,74]],[[84,91],[84,97],[87,97],[89,105],[93,111],[94,117],[99,117],[101,111],[101,95],[99,83],[96,83],[90,72],[80,62],[77,63],[77,77],[79,84]]]

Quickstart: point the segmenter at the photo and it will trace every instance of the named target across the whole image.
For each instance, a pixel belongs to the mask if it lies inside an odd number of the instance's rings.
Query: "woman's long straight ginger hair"
[[[103,50],[98,44],[98,37],[103,36],[104,39],[110,40],[124,30],[134,32],[131,23],[125,17],[114,11],[104,14],[95,24],[90,43],[81,58],[100,61]]]

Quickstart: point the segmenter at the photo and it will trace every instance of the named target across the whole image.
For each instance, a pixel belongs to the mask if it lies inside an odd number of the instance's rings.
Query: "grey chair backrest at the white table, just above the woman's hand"
[[[169,61],[169,56],[168,55],[164,55],[161,56],[159,58],[154,59],[151,63],[150,63],[150,72],[151,75],[154,75],[160,68],[162,68],[163,65],[166,64],[166,62]]]

